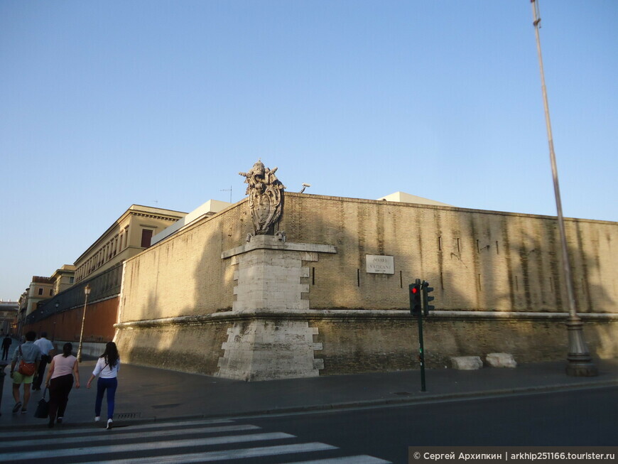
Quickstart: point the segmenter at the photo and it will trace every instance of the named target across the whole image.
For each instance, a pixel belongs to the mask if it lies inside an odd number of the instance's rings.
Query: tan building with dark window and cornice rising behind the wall
[[[104,234],[75,261],[75,284],[111,269],[150,247],[153,235],[187,213],[131,205]]]

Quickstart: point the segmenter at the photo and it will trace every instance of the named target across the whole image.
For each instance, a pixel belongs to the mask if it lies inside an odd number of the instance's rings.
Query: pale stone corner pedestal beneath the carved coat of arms
[[[287,243],[285,235],[256,235],[249,242],[222,253],[231,259],[236,296],[232,313],[245,317],[227,330],[219,358],[220,377],[269,380],[318,376],[322,350],[313,342],[318,328],[298,318],[310,308],[307,261],[320,253],[335,253],[321,244]],[[246,315],[255,315],[246,318]],[[292,317],[293,316],[293,317]]]

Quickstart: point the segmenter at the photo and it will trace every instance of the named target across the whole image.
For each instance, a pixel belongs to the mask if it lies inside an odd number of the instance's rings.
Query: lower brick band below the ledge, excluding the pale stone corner
[[[227,319],[200,324],[123,328],[116,343],[124,362],[219,375],[217,363],[224,356],[224,342],[229,341],[228,328],[234,324],[248,327],[251,320],[281,326],[288,323],[290,316],[258,315],[239,322],[230,314]],[[410,315],[298,315],[293,320],[304,321],[315,333],[313,343],[322,348],[314,353],[320,375],[419,367],[418,325]],[[430,317],[423,323],[423,329],[425,362],[430,369],[450,368],[451,356],[474,355],[484,360],[491,352],[509,352],[517,362],[541,362],[565,360],[568,351],[562,320]],[[616,357],[617,330],[618,320],[587,320],[584,332],[590,351],[601,358]],[[276,344],[272,350],[277,350]]]

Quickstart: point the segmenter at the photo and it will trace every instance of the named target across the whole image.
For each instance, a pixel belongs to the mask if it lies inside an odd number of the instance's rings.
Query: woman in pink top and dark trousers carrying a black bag
[[[75,388],[80,388],[80,367],[72,350],[73,345],[65,343],[62,355],[55,355],[49,367],[45,381],[45,387],[49,388],[49,428],[54,426],[54,421],[63,423],[74,376]]]

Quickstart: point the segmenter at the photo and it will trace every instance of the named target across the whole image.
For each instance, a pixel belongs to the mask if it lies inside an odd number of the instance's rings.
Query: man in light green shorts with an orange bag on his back
[[[26,342],[19,345],[13,352],[11,361],[11,379],[13,379],[13,414],[21,408],[22,413],[28,412],[28,401],[30,401],[30,387],[34,374],[40,363],[40,350],[34,344],[36,333],[32,330],[26,333]],[[17,367],[17,370],[15,369]],[[23,384],[23,404],[19,401],[19,387]]]

